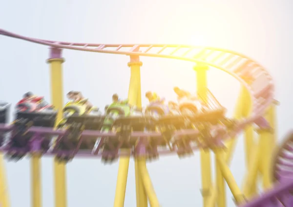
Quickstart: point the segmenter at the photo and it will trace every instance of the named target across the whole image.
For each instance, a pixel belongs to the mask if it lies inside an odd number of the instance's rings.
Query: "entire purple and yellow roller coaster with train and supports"
[[[119,159],[114,207],[123,207],[129,158],[135,161],[137,207],[159,207],[146,169],[146,161],[174,154],[180,157],[200,150],[204,207],[226,206],[227,182],[240,207],[293,206],[292,134],[274,149],[274,85],[271,75],[254,60],[225,49],[187,45],[108,45],[48,41],[28,38],[0,29],[0,35],[50,46],[52,105],[43,97],[25,96],[15,108],[15,120],[7,124],[9,103],[0,103],[0,151],[9,160],[30,155],[32,206],[41,207],[40,160],[55,157],[55,206],[66,207],[65,164],[75,157]],[[105,112],[88,106],[87,99],[63,105],[62,49],[127,55],[130,84],[126,100],[114,100]],[[178,103],[153,100],[141,104],[140,57],[179,59],[196,64],[197,94],[184,93]],[[242,91],[233,118],[207,89],[209,67],[237,79]],[[253,131],[258,143],[253,141]],[[243,189],[229,169],[236,136],[244,131],[247,175]],[[225,149],[225,150],[224,150]],[[215,184],[211,183],[210,152],[216,158]],[[264,192],[256,190],[262,175]],[[10,207],[3,157],[0,157],[0,206]],[[184,204],[183,204],[184,205]]]

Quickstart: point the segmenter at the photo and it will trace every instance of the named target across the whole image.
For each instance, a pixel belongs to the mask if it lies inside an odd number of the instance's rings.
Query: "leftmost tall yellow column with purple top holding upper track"
[[[64,59],[61,56],[62,50],[60,48],[50,48],[50,58],[47,62],[50,65],[51,71],[51,101],[58,110],[58,123],[62,118],[63,109],[63,74],[62,63]],[[54,161],[55,171],[55,207],[67,206],[66,194],[66,168],[65,164],[60,164]]]

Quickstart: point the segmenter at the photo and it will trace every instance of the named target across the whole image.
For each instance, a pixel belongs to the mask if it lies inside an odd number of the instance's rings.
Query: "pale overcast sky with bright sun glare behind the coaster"
[[[87,43],[172,43],[223,47],[267,68],[276,84],[278,139],[292,127],[293,77],[291,0],[25,0],[0,1],[0,28],[24,36]],[[24,92],[50,101],[48,47],[0,36],[0,99],[13,105]],[[118,93],[127,97],[129,57],[64,50],[64,94],[82,91],[103,108]],[[174,86],[195,92],[192,63],[143,57],[142,93],[174,99]],[[233,112],[239,84],[215,69],[209,88]],[[144,97],[144,96],[143,96]],[[65,98],[65,95],[64,95]],[[146,104],[143,98],[143,104]],[[239,185],[245,174],[243,139],[231,165]],[[6,162],[12,207],[29,207],[29,161]],[[54,206],[53,162],[42,159],[43,207]],[[134,162],[130,161],[125,207],[134,207]],[[75,159],[67,165],[69,207],[113,206],[118,163]],[[199,154],[162,157],[148,170],[163,207],[201,206]],[[229,207],[234,206],[227,190]]]

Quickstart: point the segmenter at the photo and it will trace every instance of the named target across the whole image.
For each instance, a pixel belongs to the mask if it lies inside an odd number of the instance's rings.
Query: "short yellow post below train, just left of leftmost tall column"
[[[32,207],[42,207],[42,175],[41,159],[38,154],[31,158],[31,204]]]

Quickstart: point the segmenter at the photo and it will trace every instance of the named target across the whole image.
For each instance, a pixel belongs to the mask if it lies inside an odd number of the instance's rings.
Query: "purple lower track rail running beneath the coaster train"
[[[212,146],[216,147],[223,147],[223,141],[230,139],[232,137],[235,137],[248,123],[251,123],[252,121],[250,119],[246,119],[243,121],[240,121],[236,126],[235,130],[233,131],[227,131],[225,130],[224,134],[219,135],[218,137],[212,138],[209,141],[212,142],[201,142],[200,138],[198,137],[199,132],[194,129],[187,129],[187,130],[180,130],[176,131],[173,134],[173,138],[182,138],[183,136],[192,136],[193,141],[192,141],[192,146],[191,150],[198,150],[198,149],[203,149],[203,148],[209,148],[210,144]],[[267,125],[267,122],[264,118],[261,118],[259,121],[254,120],[255,123],[257,123],[260,127],[269,127]],[[214,128],[216,130],[221,130],[221,128]],[[0,132],[8,133],[13,130],[12,125],[4,125],[0,124]],[[45,136],[52,137],[52,136],[63,136],[65,134],[65,131],[63,130],[53,130],[53,128],[48,128],[48,127],[30,127],[28,132],[33,133],[31,141],[30,141],[30,153],[36,153],[36,152],[41,152],[41,141]],[[112,137],[115,138],[116,133],[113,132],[108,132],[108,133],[103,133],[100,131],[93,131],[93,130],[84,130],[83,133],[81,134],[81,138],[105,138],[105,137]],[[142,144],[140,147],[134,148],[131,153],[125,153],[125,152],[118,152],[118,156],[128,156],[128,155],[147,155],[147,152],[145,148],[147,147],[147,138],[152,137],[157,139],[157,143],[163,142],[163,137],[161,133],[157,132],[132,132],[131,138],[137,139],[137,141],[140,141]],[[119,139],[119,138],[117,138]],[[142,149],[143,148],[143,149]],[[4,147],[0,148],[0,151],[6,152],[8,149]],[[172,150],[170,149],[158,149],[158,154],[160,155],[167,155],[167,154],[174,154],[174,153],[179,153],[179,151],[182,150],[181,148],[176,148],[174,147]],[[14,151],[21,152],[19,149],[15,149]],[[45,152],[42,153],[43,155],[54,155],[62,153],[63,155],[69,155],[72,153],[72,151],[52,151],[52,152]],[[111,154],[113,152],[104,152],[103,154]],[[76,153],[76,157],[101,157],[101,153],[93,154],[91,150],[78,150]]]

